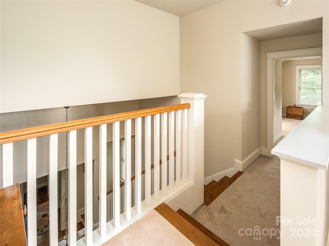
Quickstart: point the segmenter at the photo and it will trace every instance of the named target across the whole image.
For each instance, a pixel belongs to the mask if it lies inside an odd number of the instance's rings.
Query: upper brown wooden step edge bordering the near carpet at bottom
[[[165,219],[167,219],[181,234],[186,236],[196,246],[218,245],[208,236],[192,226],[185,218],[176,213],[166,203],[161,203],[155,210]]]

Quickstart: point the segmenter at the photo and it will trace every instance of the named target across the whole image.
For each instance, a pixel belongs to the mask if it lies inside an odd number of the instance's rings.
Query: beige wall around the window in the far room
[[[286,107],[296,104],[296,66],[322,64],[322,59],[286,60],[282,64],[282,112]],[[309,115],[314,108],[304,107],[304,116]]]

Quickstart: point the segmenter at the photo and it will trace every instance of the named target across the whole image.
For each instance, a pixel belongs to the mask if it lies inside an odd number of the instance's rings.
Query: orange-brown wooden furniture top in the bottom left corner
[[[20,185],[0,189],[0,245],[27,245]]]

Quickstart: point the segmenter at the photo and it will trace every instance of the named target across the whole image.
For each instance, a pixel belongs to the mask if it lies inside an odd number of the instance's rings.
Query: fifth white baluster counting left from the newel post
[[[154,124],[154,169],[153,169],[153,182],[154,182],[154,199],[160,198],[160,115],[153,116]]]

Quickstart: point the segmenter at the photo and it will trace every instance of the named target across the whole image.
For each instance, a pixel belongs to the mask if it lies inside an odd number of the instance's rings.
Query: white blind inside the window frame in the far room
[[[299,104],[322,104],[322,70],[299,69]]]

